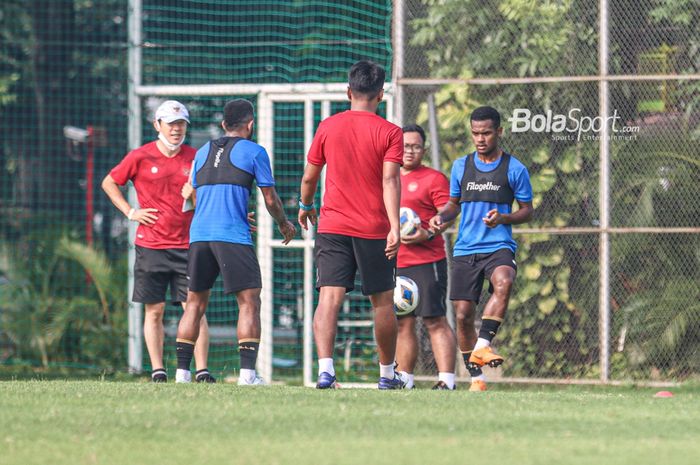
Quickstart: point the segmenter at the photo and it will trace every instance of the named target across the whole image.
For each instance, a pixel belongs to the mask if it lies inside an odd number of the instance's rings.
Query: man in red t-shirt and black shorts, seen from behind
[[[314,314],[319,389],[336,386],[333,347],[338,311],[354,288],[359,270],[362,293],[374,308],[379,352],[379,389],[401,389],[394,371],[397,322],[394,271],[399,248],[401,128],[376,114],[384,95],[384,69],[369,61],[350,68],[350,110],[327,118],[309,149],[299,199],[299,224],[316,224],[314,195],[323,166],[326,189],[314,255],[320,290]]]

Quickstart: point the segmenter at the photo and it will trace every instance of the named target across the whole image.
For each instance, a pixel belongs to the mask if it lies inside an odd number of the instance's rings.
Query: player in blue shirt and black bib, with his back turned
[[[296,228],[284,214],[267,152],[249,140],[253,121],[253,105],[249,101],[228,102],[221,123],[224,137],[207,142],[195,156],[192,186],[197,193],[197,208],[190,228],[189,293],[177,329],[176,382],[190,382],[199,321],[221,273],[224,292],[236,294],[238,302],[238,384],[264,384],[255,371],[262,282],[247,216],[253,181],[262,191],[265,207],[277,222],[285,244],[292,240]]]

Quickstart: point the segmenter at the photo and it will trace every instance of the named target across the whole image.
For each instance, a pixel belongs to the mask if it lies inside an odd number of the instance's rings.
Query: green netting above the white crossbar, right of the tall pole
[[[146,0],[143,82],[343,82],[359,59],[391,70],[389,0]]]

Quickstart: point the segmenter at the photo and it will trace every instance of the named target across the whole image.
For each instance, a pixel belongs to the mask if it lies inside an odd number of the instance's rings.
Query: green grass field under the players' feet
[[[700,387],[0,382],[0,463],[697,464]]]

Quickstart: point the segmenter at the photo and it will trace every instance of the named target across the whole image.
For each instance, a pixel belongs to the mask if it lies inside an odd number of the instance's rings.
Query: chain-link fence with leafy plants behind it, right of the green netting
[[[503,374],[697,372],[697,4],[409,0],[404,17],[404,121],[435,119],[447,169],[494,106],[532,177]]]

